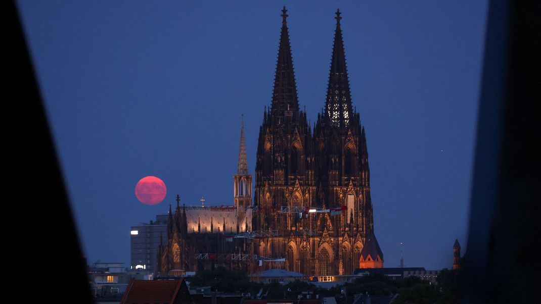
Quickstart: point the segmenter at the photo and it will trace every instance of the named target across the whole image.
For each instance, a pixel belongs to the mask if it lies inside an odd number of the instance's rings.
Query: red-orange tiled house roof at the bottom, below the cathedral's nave
[[[134,280],[131,279],[122,295],[121,303],[172,303],[182,285],[180,280]]]

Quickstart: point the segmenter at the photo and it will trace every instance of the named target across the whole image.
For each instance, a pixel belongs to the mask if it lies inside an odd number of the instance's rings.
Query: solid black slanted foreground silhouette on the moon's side
[[[6,241],[4,247],[10,254],[6,265],[13,267],[9,281],[25,288],[24,293],[17,294],[22,302],[55,299],[93,303],[85,260],[17,7],[15,1],[7,4],[5,28],[9,38],[7,42],[4,40],[8,50],[4,66],[8,70],[4,76],[8,83],[4,84],[3,116],[4,123],[11,121],[4,134],[11,134],[13,140],[6,143],[12,154],[4,159],[9,167],[9,173],[4,174],[9,177],[8,184],[16,184],[9,187],[16,199],[4,197],[11,201],[9,204],[5,201],[4,208],[15,209],[9,212],[4,209],[4,220],[14,216],[18,227],[23,227],[24,222],[25,228],[24,232],[17,227],[19,233],[6,233],[16,238]]]

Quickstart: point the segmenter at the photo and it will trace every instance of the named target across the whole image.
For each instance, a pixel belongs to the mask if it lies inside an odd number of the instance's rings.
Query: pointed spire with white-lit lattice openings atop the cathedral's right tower
[[[333,126],[348,125],[352,118],[351,94],[346,69],[346,53],[340,28],[340,10],[336,12],[337,28],[334,32],[333,57],[329,71],[329,85],[325,113]]]

